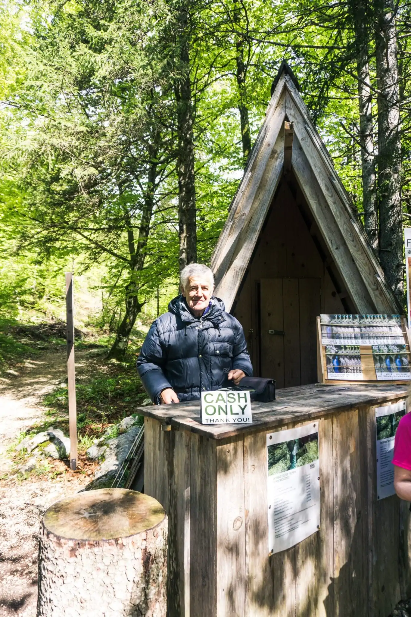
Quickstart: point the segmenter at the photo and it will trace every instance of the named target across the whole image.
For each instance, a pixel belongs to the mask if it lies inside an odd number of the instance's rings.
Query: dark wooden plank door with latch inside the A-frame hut
[[[319,278],[261,279],[261,376],[276,379],[277,387],[317,381],[320,289]]]

